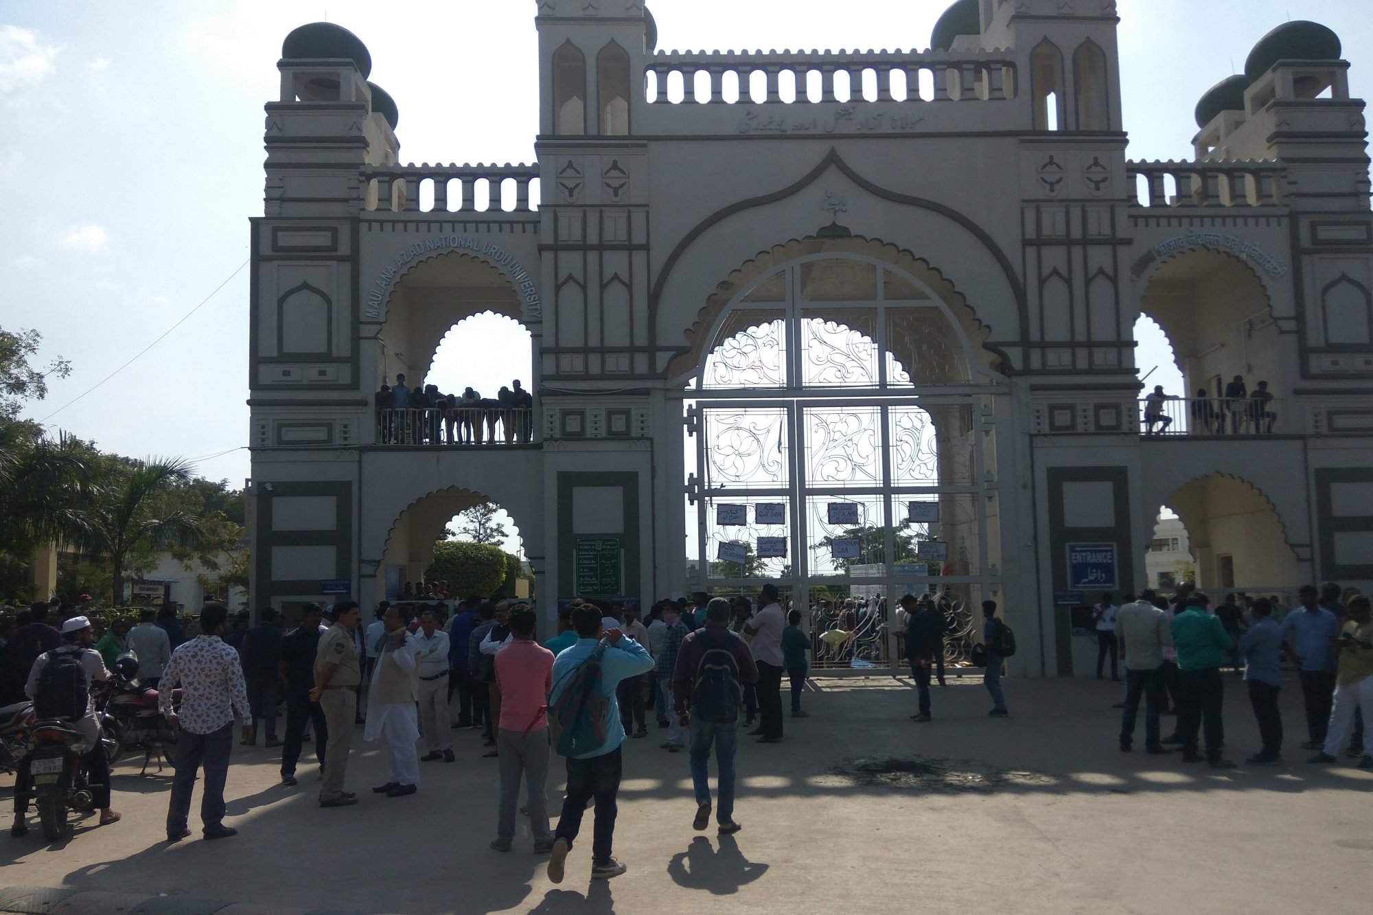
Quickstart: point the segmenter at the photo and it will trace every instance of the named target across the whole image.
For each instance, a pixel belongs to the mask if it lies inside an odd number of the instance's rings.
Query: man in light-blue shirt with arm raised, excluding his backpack
[[[577,631],[577,644],[562,651],[553,661],[553,691],[548,705],[557,703],[559,695],[573,673],[604,644],[600,658],[600,688],[597,695],[607,701],[605,742],[589,753],[567,757],[567,794],[563,800],[563,813],[553,831],[553,850],[548,861],[548,879],[563,882],[563,868],[573,841],[582,826],[582,812],[586,802],[596,798],[596,826],[592,834],[592,877],[619,877],[627,868],[611,857],[615,839],[615,795],[619,793],[622,758],[619,745],[625,742],[625,725],[619,721],[619,703],[615,701],[615,687],[621,680],[637,677],[654,669],[648,650],[623,635],[619,629],[603,632],[601,613],[593,605],[584,605],[573,611],[573,629]],[[604,636],[604,637],[603,637]]]

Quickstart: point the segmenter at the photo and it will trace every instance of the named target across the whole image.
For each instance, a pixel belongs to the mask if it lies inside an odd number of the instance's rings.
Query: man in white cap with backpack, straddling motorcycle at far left
[[[92,648],[95,633],[85,617],[71,617],[62,624],[62,646],[40,654],[29,672],[25,692],[33,699],[38,719],[66,719],[81,732],[91,747],[84,758],[95,806],[100,811],[100,826],[117,823],[119,815],[110,809],[110,761],[100,741],[100,720],[91,702],[91,683],[108,680],[100,653]],[[14,826],[10,835],[29,831],[23,817],[29,812],[29,760],[19,762],[14,786]]]

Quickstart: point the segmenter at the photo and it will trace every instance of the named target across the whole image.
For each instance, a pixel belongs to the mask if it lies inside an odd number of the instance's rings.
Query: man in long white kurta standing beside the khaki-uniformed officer
[[[367,741],[382,741],[390,776],[386,784],[372,789],[386,797],[415,794],[420,780],[420,760],[415,741],[420,730],[415,720],[419,697],[415,636],[405,629],[406,620],[391,606],[383,617],[386,636],[372,669],[372,688],[368,691]]]

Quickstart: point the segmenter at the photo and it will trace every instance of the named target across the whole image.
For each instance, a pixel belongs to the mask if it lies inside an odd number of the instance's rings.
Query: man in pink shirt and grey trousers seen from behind
[[[529,784],[529,827],[534,852],[553,848],[548,831],[548,694],[553,688],[553,653],[534,642],[538,618],[529,606],[511,610],[511,640],[493,659],[501,692],[501,720],[496,746],[500,750],[500,822],[492,848],[511,850],[515,839],[515,808],[519,804],[520,773]]]

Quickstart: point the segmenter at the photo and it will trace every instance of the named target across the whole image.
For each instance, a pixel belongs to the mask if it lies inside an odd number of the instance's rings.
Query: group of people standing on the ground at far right
[[[1297,600],[1297,607],[1278,618],[1269,598],[1241,605],[1227,595],[1212,607],[1190,583],[1177,585],[1171,598],[1141,591],[1120,607],[1103,595],[1094,615],[1112,622],[1109,642],[1119,644],[1126,666],[1120,750],[1133,746],[1142,698],[1146,753],[1168,754],[1181,745],[1184,762],[1234,768],[1223,754],[1222,668],[1230,666],[1245,679],[1260,735],[1259,750],[1245,762],[1281,762],[1278,695],[1285,659],[1296,668],[1302,687],[1307,731],[1302,749],[1315,752],[1308,761],[1337,762],[1344,753],[1361,768],[1373,768],[1363,743],[1365,710],[1373,709],[1369,599],[1328,581],[1321,588],[1303,585]],[[1168,736],[1160,736],[1163,714],[1177,716]]]

